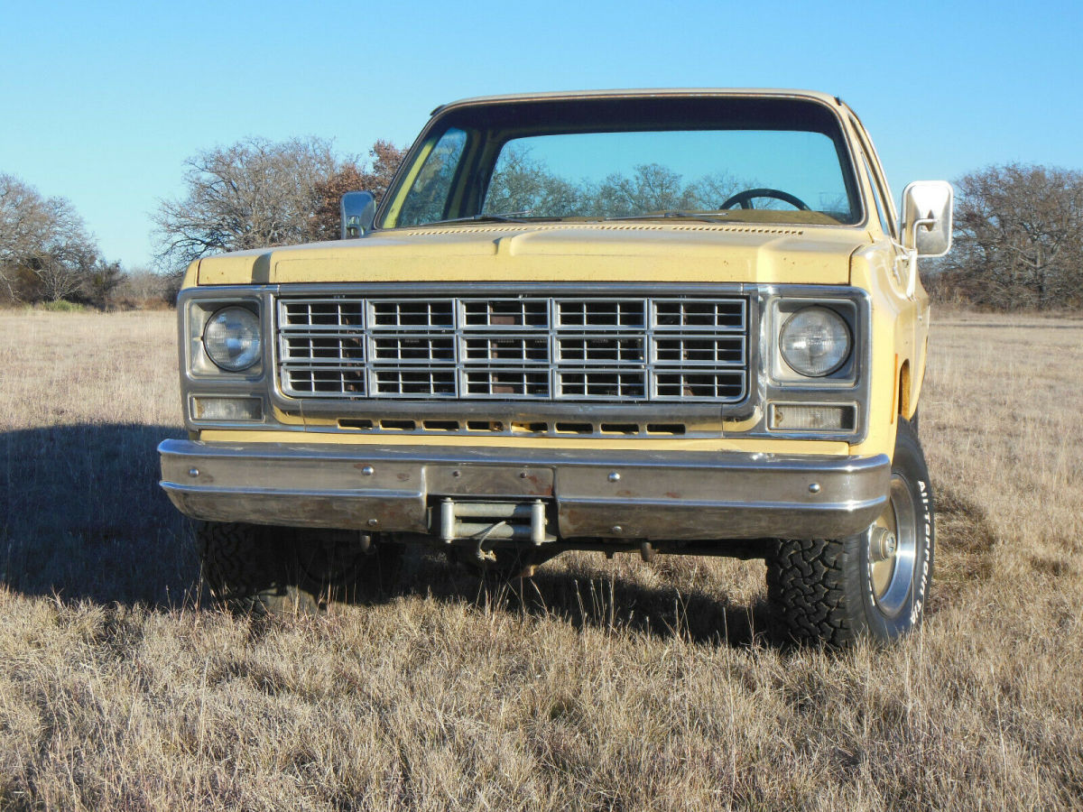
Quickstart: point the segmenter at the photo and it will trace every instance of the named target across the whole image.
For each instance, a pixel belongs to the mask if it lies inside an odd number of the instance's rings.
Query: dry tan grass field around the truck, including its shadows
[[[1083,806],[1083,320],[935,324],[927,623],[831,654],[767,644],[757,562],[566,556],[516,604],[416,553],[376,605],[208,608],[172,318],[0,312],[0,809]]]

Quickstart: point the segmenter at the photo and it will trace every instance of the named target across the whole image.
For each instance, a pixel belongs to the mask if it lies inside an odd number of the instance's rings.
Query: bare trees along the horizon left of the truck
[[[185,266],[200,257],[338,238],[342,194],[381,195],[404,154],[381,140],[367,160],[338,156],[317,137],[249,137],[196,153],[185,162],[184,193],[152,214],[157,273],[107,261],[69,200],[0,173],[0,302],[171,303]]]

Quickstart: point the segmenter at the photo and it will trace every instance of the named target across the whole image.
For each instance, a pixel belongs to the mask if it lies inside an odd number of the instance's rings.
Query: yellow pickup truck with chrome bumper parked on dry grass
[[[161,486],[246,612],[362,595],[404,543],[767,562],[777,632],[922,619],[917,436],[951,186],[897,212],[853,112],[791,90],[442,106],[342,239],[207,257]]]

